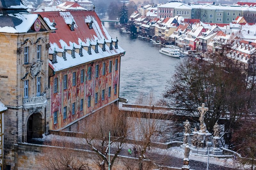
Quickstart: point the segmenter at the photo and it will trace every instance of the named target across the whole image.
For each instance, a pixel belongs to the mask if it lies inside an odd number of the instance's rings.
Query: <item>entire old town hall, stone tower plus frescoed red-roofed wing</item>
[[[20,0],[0,0],[5,169],[17,168],[17,146],[48,130],[75,130],[119,97],[124,50],[94,11],[26,9]]]

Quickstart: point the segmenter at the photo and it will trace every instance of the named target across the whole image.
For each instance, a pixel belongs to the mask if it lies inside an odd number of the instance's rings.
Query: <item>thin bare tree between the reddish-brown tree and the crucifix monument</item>
[[[147,169],[148,166],[154,165],[161,167],[170,160],[170,153],[164,152],[160,148],[158,143],[159,138],[165,138],[166,126],[164,121],[172,118],[171,115],[164,115],[163,112],[154,109],[156,102],[152,93],[149,96],[140,95],[137,99],[137,104],[148,106],[148,109],[141,108],[132,113],[129,117],[129,121],[132,122],[129,138],[132,138],[136,150],[138,151],[138,169]],[[175,120],[168,125],[168,128],[172,128],[170,133],[175,133]],[[150,161],[151,164],[145,162]],[[135,168],[135,167],[134,167]]]

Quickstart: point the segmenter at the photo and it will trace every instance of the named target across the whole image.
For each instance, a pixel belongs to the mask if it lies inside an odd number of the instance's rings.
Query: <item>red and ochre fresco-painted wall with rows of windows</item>
[[[118,59],[117,70],[115,61]],[[109,72],[109,61],[112,61],[112,69]],[[102,75],[103,63],[106,63],[105,75]],[[96,65],[99,65],[99,76],[96,77]],[[110,104],[118,99],[119,94],[119,74],[120,74],[120,55],[96,60],[77,67],[72,67],[56,74],[50,78],[51,91],[51,113],[49,126],[52,130],[58,130],[77,119],[85,116],[94,110]],[[91,80],[88,78],[89,67],[91,67]],[[81,82],[81,70],[84,69],[84,82]],[[76,72],[76,85],[72,85],[73,72]],[[67,75],[67,89],[64,89],[64,75]],[[58,92],[54,93],[54,79],[58,78]],[[116,94],[115,92],[116,84]],[[111,95],[108,97],[108,88],[111,87]],[[104,100],[102,90],[105,89]],[[95,103],[95,93],[98,92],[98,103]],[[91,96],[91,106],[88,107],[88,97]],[[80,101],[84,99],[83,108],[80,108]],[[72,115],[72,103],[75,104],[75,114]],[[64,118],[63,108],[67,106],[67,116]],[[57,123],[54,123],[54,112],[58,112]]]

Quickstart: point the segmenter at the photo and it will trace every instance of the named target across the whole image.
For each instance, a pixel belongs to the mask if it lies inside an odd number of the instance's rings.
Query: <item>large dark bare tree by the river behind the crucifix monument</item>
[[[197,107],[205,103],[209,108],[205,122],[210,132],[221,117],[227,118],[225,138],[228,144],[237,121],[251,112],[255,89],[251,88],[252,84],[248,87],[248,65],[229,57],[232,44],[218,44],[218,52],[207,53],[202,60],[183,60],[177,65],[176,73],[168,81],[163,94],[163,103],[185,109],[177,112],[195,123],[199,117]]]

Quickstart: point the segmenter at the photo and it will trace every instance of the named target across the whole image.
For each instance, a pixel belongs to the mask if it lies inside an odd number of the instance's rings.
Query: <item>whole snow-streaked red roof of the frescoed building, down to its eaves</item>
[[[64,14],[65,13],[65,14]],[[106,51],[102,51],[99,47],[99,53],[95,53],[92,50],[92,55],[87,53],[88,46],[96,45],[96,43],[103,44],[104,39],[107,43],[111,42],[111,36],[102,25],[100,18],[94,11],[68,11],[68,12],[42,12],[40,15],[43,18],[48,18],[49,23],[52,23],[53,20],[56,23],[56,32],[50,34],[50,49],[49,54],[54,53],[54,49],[57,52],[63,52],[64,48],[71,50],[73,46],[75,48],[80,48],[81,45],[83,48],[83,57],[80,57],[78,53],[75,53],[76,58],[72,58],[70,54],[66,53],[67,60],[64,60],[61,54],[57,53],[57,63],[52,64],[49,61],[49,66],[54,69],[54,71],[60,71],[69,67],[73,67],[82,63],[90,62],[100,58],[105,58],[113,55],[123,53],[124,50],[118,46],[116,49],[113,45],[113,50],[109,50],[108,44],[106,44]],[[68,19],[67,19],[68,18]],[[76,23],[74,31],[70,30],[70,27],[66,22],[70,22],[70,18],[73,18],[73,21]],[[47,19],[46,19],[47,20]],[[68,21],[69,20],[69,21]],[[92,29],[89,28],[88,21],[92,21]],[[114,42],[116,39],[112,39]]]

